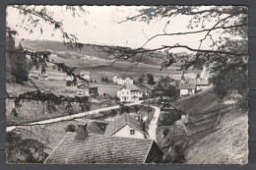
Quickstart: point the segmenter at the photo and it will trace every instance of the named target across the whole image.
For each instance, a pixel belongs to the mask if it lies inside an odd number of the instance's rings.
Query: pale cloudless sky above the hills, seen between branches
[[[40,9],[41,7],[36,7]],[[149,8],[146,6],[83,6],[86,13],[80,17],[73,17],[71,13],[64,10],[60,6],[47,6],[49,12],[53,12],[53,17],[56,21],[63,23],[63,28],[68,33],[77,35],[78,41],[82,43],[93,43],[100,45],[119,45],[129,46],[132,48],[141,47],[148,38],[163,33],[165,24],[165,32],[183,32],[197,30],[200,28],[187,28],[191,17],[177,16],[172,18],[158,18],[148,23],[138,21],[124,21],[126,17],[131,17],[139,14],[138,10]],[[209,8],[209,7],[202,7]],[[54,30],[53,26],[43,21],[39,22],[42,27],[36,27],[33,32],[25,30],[26,27],[31,28],[28,22],[22,24],[25,17],[20,15],[16,9],[12,7],[7,8],[7,26],[18,30],[18,38],[32,39],[32,40],[55,40],[62,41],[62,35],[59,30]],[[215,21],[206,24],[207,28],[215,25]],[[191,48],[198,48],[200,39],[205,36],[206,32],[176,35],[176,36],[160,36],[151,40],[145,48],[157,48],[161,45],[188,45]],[[220,36],[218,31],[214,32],[214,38]],[[207,38],[202,44],[203,49],[210,49],[212,41]],[[184,49],[173,49],[173,52],[183,52]]]

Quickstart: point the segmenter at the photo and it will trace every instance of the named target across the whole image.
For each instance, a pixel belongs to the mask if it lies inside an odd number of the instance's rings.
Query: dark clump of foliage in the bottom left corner
[[[42,163],[48,154],[37,140],[23,140],[14,132],[6,133],[6,154],[9,163]]]

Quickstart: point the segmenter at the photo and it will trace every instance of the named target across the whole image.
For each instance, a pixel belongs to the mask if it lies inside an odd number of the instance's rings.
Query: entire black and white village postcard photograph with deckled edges
[[[8,5],[6,163],[247,164],[245,6]]]

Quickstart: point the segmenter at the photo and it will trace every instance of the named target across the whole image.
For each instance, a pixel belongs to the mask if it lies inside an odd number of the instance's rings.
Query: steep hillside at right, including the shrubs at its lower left
[[[247,110],[224,104],[211,88],[179,99],[175,106],[186,113],[186,119],[158,130],[158,142],[166,153],[167,162],[247,163]],[[163,131],[168,132],[165,137]]]

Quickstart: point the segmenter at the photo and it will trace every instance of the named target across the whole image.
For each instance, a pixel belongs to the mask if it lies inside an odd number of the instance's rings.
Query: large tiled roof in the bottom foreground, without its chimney
[[[89,134],[84,142],[75,140],[76,133],[67,133],[44,163],[145,163],[153,140],[106,137]]]

